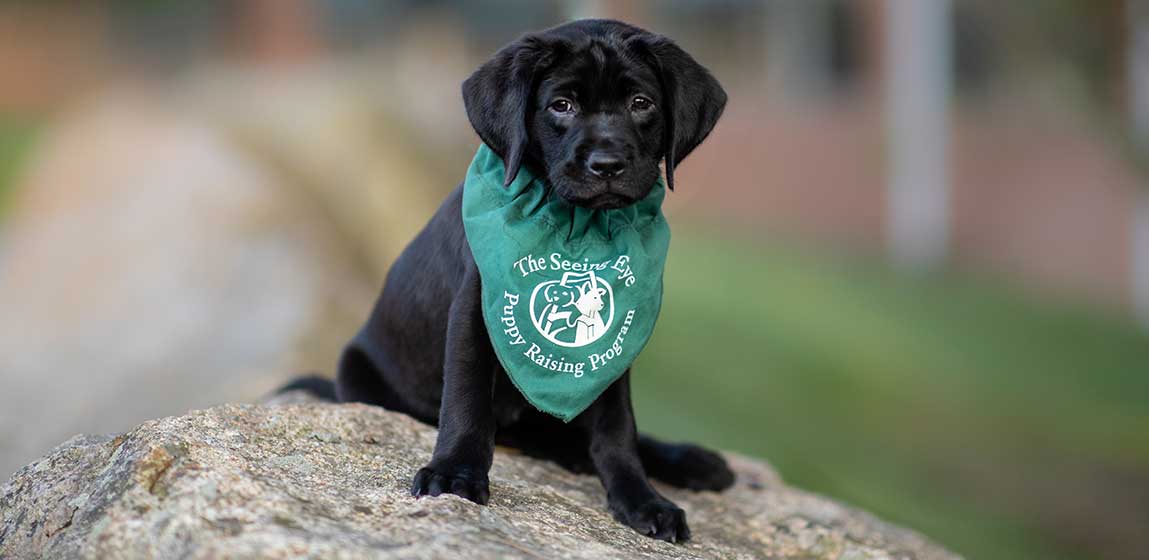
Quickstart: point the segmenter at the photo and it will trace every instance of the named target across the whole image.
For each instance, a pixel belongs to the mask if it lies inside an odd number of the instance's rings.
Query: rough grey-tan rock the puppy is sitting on
[[[410,498],[434,430],[363,405],[225,405],[77,436],[0,496],[0,558],[955,558],[731,457],[724,493],[663,488],[694,539],[640,536],[596,478],[500,450],[488,507]]]

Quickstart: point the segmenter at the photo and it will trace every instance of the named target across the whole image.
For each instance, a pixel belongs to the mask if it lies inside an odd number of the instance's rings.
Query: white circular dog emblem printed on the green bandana
[[[540,282],[531,292],[531,322],[560,346],[586,346],[602,338],[614,320],[615,292],[593,270]]]

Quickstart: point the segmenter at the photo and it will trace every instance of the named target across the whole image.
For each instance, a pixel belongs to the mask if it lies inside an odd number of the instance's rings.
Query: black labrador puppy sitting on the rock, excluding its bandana
[[[642,199],[710,132],[726,94],[669,39],[585,20],[527,34],[463,83],[479,137],[506,162],[549,179],[571,205],[618,208]],[[570,423],[538,412],[502,370],[480,312],[480,278],[463,231],[460,185],[395,261],[371,316],[347,346],[334,393],[438,424],[414,496],[485,504],[495,444],[596,473],[620,522],[670,542],[686,516],[647,476],[723,490],[734,475],[717,453],[638,434],[627,371]],[[329,382],[330,383],[330,382]],[[304,383],[307,384],[307,383]]]

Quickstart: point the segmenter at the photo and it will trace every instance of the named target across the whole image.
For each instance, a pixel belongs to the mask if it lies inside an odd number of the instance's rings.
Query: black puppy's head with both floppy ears
[[[527,34],[463,82],[466,115],[507,166],[534,166],[555,193],[619,208],[650,192],[714,129],[718,82],[670,39],[583,20]]]

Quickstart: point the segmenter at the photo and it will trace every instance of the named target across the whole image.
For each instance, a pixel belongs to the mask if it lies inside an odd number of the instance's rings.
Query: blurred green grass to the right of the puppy
[[[1143,517],[1113,484],[1149,481],[1133,325],[951,275],[677,230],[671,247],[633,378],[643,429],[765,458],[969,558],[1093,555],[1112,535],[1082,528]]]

